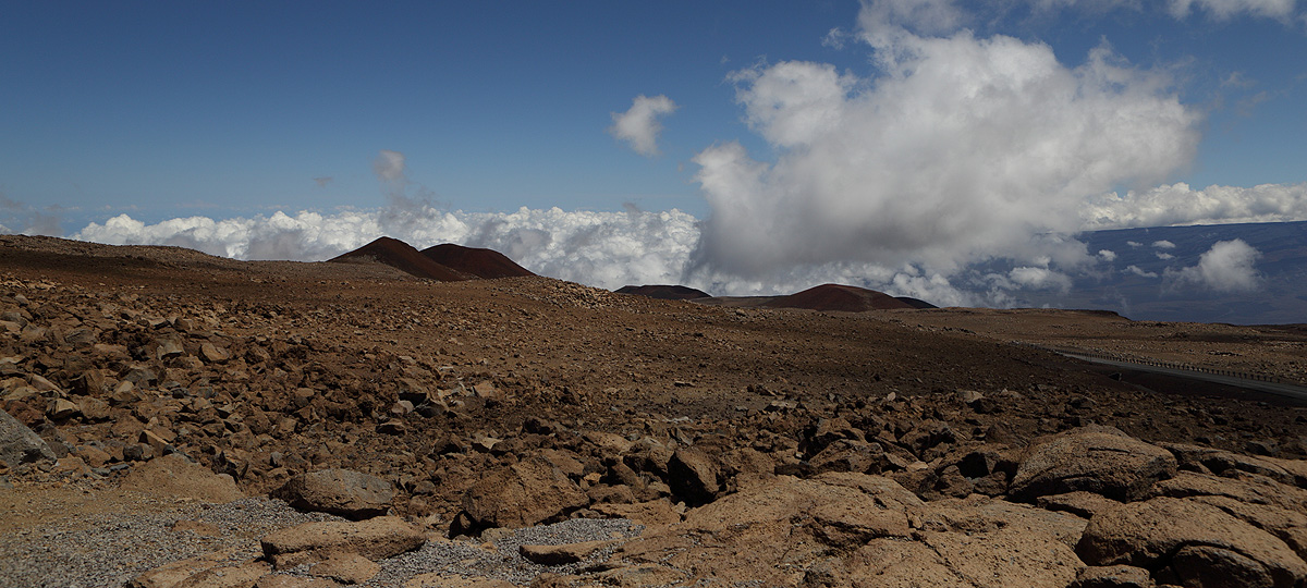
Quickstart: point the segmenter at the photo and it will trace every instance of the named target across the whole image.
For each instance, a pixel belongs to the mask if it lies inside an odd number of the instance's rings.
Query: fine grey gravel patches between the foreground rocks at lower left
[[[220,529],[217,537],[171,531],[178,520]],[[233,551],[234,561],[261,555],[259,538],[281,528],[341,520],[295,511],[285,502],[246,498],[226,504],[187,504],[166,512],[93,515],[80,520],[0,534],[0,585],[31,588],[118,588],[154,567],[210,551]],[[429,541],[421,549],[382,561],[382,572],[365,587],[400,587],[418,574],[495,578],[529,584],[541,572],[575,574],[605,561],[612,549],[580,563],[540,566],[518,554],[521,545],[562,545],[639,534],[625,519],[576,519],[502,532],[484,549],[476,541]],[[280,574],[307,575],[307,566]]]

